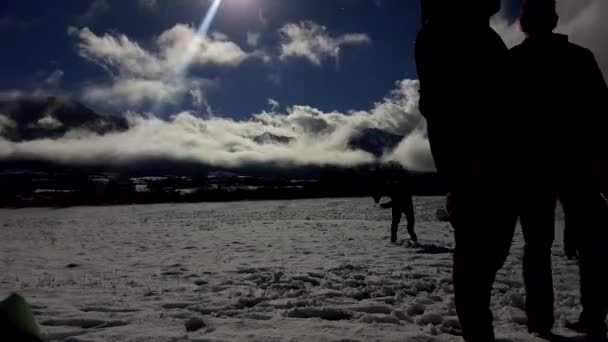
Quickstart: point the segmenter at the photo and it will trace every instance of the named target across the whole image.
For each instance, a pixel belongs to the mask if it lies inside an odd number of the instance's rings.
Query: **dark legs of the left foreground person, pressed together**
[[[513,203],[487,195],[453,192],[448,205],[456,238],[456,311],[468,342],[494,341],[492,285],[509,254],[517,222]]]

